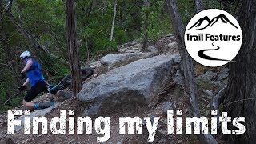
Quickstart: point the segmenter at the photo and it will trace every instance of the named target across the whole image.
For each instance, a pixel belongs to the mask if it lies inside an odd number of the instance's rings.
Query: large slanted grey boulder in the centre
[[[130,110],[149,104],[170,81],[177,62],[180,62],[178,54],[140,59],[86,82],[78,94],[78,99],[88,106],[84,115]]]

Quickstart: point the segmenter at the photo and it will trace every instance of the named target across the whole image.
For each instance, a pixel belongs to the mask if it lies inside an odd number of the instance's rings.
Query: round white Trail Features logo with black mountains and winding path
[[[242,30],[229,13],[218,9],[203,10],[191,18],[184,34],[186,50],[204,66],[222,66],[238,54]]]

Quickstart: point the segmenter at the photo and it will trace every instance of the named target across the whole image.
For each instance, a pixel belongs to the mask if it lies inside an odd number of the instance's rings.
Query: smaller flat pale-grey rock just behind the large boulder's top
[[[124,54],[108,54],[101,59],[101,64],[108,66],[109,70],[115,67],[124,66],[138,59],[150,58],[155,53],[124,53]]]

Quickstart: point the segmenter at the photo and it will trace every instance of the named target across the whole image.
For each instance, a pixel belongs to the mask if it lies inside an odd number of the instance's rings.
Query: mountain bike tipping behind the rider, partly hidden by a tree
[[[90,67],[82,67],[81,68],[82,81],[85,81],[87,78],[90,78],[90,76],[92,76],[93,74],[94,74],[94,69],[92,69]],[[62,78],[62,80],[60,82],[57,82],[56,85],[52,85],[49,82],[46,82],[46,86],[47,86],[48,92],[50,93],[50,91],[53,91],[53,90],[57,90],[57,91],[64,90],[64,89],[70,87],[71,82],[72,82],[71,74],[66,74],[66,76],[64,78]],[[17,97],[20,94],[22,94],[22,90],[19,90],[19,92],[17,94],[14,94],[12,97],[8,98],[6,100],[6,102],[4,102],[4,105],[6,105],[6,103],[9,102],[12,98]],[[51,95],[51,93],[50,93],[50,95]],[[50,97],[50,101],[53,102],[52,97]]]

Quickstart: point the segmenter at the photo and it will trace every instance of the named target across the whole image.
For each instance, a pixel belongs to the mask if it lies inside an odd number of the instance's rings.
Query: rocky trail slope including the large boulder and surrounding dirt
[[[86,80],[77,98],[55,98],[57,105],[45,110],[31,112],[31,116],[47,119],[60,115],[60,110],[75,110],[75,117],[90,116],[92,134],[24,134],[22,126],[15,133],[6,134],[7,114],[0,116],[0,144],[2,143],[98,143],[94,119],[110,117],[110,139],[105,143],[147,143],[148,132],[142,122],[142,134],[119,134],[119,117],[160,117],[153,143],[199,143],[194,135],[167,134],[167,110],[183,110],[182,117],[190,116],[189,99],[183,91],[182,74],[179,70],[180,56],[174,35],[161,38],[141,51],[140,42],[118,46],[118,54],[108,54],[91,63],[96,74]],[[226,85],[228,69],[196,66],[198,102],[201,113],[210,116],[211,94],[217,94]],[[46,101],[45,95],[35,101]],[[24,110],[23,106],[15,108]],[[22,117],[20,117],[22,119]],[[175,121],[175,119],[174,119]],[[40,126],[39,126],[40,127]],[[48,121],[48,127],[50,122]],[[32,130],[30,130],[32,131]],[[221,142],[218,140],[218,142]]]

